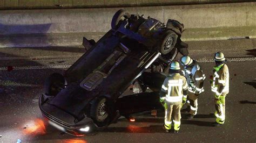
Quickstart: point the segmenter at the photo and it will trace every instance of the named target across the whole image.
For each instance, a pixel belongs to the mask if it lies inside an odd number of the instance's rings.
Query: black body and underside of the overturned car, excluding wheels
[[[161,107],[159,91],[166,75],[144,71],[161,56],[156,44],[167,29],[153,18],[139,17],[134,24],[140,26],[129,30],[126,26],[132,25],[124,20],[116,30],[107,32],[65,71],[68,85],[64,89],[54,97],[43,94],[39,98],[43,116],[53,121],[53,126],[64,127],[75,135],[80,133],[79,127],[89,124],[99,128],[90,117],[90,108],[93,100],[101,96],[125,116]],[[165,68],[168,64],[163,63]],[[136,79],[153,92],[120,98]]]

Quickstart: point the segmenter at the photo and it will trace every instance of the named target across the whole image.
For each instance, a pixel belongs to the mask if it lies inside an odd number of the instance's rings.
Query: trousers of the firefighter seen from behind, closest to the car
[[[171,105],[170,103],[166,102],[167,108],[165,108],[165,128],[170,130],[172,128],[172,118],[174,123],[174,130],[178,131],[180,128],[180,109],[181,104],[178,105]],[[173,117],[172,117],[173,115]]]

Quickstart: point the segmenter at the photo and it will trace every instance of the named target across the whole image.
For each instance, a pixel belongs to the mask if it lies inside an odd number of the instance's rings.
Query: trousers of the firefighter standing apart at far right
[[[224,124],[225,122],[225,97],[226,95],[220,95],[219,98],[215,96],[215,113],[216,122]]]

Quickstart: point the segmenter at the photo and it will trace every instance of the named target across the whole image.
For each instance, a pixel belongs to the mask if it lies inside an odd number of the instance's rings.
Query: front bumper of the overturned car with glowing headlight
[[[93,123],[92,119],[87,117],[85,117],[82,121],[79,121],[77,123],[74,123],[74,121],[73,121],[73,124],[67,123],[68,121],[64,121],[63,119],[60,119],[54,116],[53,114],[49,113],[47,108],[44,108],[43,101],[44,101],[44,95],[41,95],[39,97],[39,108],[42,112],[44,119],[48,121],[48,123],[51,126],[57,128],[58,130],[66,132],[71,135],[75,135],[75,136],[83,136],[85,134],[91,133],[93,130],[96,129],[96,126]],[[56,107],[52,106],[52,108],[56,108]],[[60,109],[57,109],[57,110],[58,112],[62,112],[63,116],[66,116],[67,118],[73,118],[73,120],[75,120],[75,118],[69,115],[68,113],[61,111]],[[83,128],[84,130],[86,128],[86,131],[81,131],[81,128]]]

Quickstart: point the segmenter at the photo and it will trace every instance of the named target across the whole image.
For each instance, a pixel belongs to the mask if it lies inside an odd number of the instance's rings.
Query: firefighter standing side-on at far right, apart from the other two
[[[211,80],[212,91],[215,94],[216,121],[213,126],[223,125],[225,122],[225,97],[229,92],[229,73],[224,54],[216,52],[214,55],[215,67]]]

